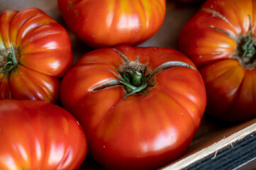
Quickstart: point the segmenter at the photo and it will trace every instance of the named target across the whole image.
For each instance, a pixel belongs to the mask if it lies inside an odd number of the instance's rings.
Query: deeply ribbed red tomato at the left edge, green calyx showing
[[[0,14],[0,99],[55,103],[73,63],[65,28],[38,8]]]

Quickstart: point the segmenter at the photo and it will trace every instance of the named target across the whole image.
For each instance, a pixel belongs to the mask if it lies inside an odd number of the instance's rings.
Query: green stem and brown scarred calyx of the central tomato
[[[108,71],[115,74],[118,79],[106,81],[104,84],[94,87],[91,91],[99,91],[114,86],[122,86],[126,94],[123,99],[133,94],[147,95],[148,91],[157,84],[155,76],[158,73],[173,67],[189,67],[195,70],[195,68],[189,64],[179,61],[165,62],[152,70],[148,67],[148,63],[141,64],[139,62],[139,57],[136,58],[135,62],[130,62],[129,58],[126,57],[123,52],[116,49],[113,50],[121,57],[123,64],[121,64],[118,69],[115,69],[118,74],[111,70]]]

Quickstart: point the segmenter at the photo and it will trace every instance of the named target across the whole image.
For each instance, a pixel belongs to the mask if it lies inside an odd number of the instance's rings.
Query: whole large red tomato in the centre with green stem
[[[88,52],[63,78],[60,96],[82,124],[91,157],[107,169],[156,169],[177,159],[206,107],[199,71],[165,47]]]

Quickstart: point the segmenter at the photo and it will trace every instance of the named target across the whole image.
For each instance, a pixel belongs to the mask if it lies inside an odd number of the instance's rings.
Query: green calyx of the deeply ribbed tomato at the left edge
[[[4,74],[1,79],[4,79],[4,76],[6,74],[9,74],[11,70],[15,69],[17,66],[17,60],[16,60],[16,52],[13,48],[13,45],[11,43],[11,52],[8,52],[8,55],[6,57],[6,61],[3,59],[0,62],[0,68],[2,67],[3,69],[1,70],[0,74]]]

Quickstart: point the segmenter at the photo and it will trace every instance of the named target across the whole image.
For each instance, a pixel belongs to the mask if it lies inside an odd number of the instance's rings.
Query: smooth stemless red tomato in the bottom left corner
[[[77,120],[44,101],[0,101],[0,169],[78,169],[87,139]]]

